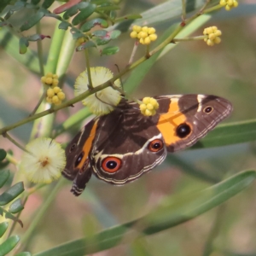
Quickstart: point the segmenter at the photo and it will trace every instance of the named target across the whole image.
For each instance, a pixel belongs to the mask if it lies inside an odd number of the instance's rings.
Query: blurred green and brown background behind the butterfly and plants
[[[140,13],[162,1],[124,1],[123,13]],[[250,5],[249,5],[250,4]],[[194,35],[201,35],[203,28],[218,26],[223,32],[222,43],[213,47],[202,41],[178,44],[143,79],[143,83],[133,92],[133,96],[158,96],[186,93],[201,93],[223,96],[230,100],[234,112],[230,121],[255,119],[256,113],[256,4],[254,1],[241,1],[240,6],[229,13],[224,10],[213,15],[212,19]],[[170,22],[170,23],[168,23]],[[173,20],[156,25],[160,34]],[[51,35],[55,22],[44,19],[42,31]],[[119,41],[119,53],[99,57],[96,50],[90,55],[91,66],[104,66],[117,73],[125,67],[131,55],[133,41],[126,32]],[[44,53],[47,54],[50,39],[44,39]],[[35,48],[35,44],[32,45]],[[18,52],[18,45],[17,49]],[[136,59],[144,54],[139,47]],[[0,126],[10,125],[26,117],[38,101],[40,79],[22,67],[13,57],[0,48]],[[74,79],[84,71],[84,55],[75,53],[63,90],[68,98],[73,97]],[[125,83],[124,78],[124,83]],[[57,113],[57,122],[61,124],[69,115],[83,108],[75,108]],[[85,122],[84,122],[85,123]],[[80,125],[82,127],[83,124]],[[32,124],[23,125],[11,132],[20,143],[27,143]],[[60,143],[67,143],[78,129],[57,137]],[[20,159],[20,149],[9,141],[0,138],[1,148],[11,148],[16,159]],[[242,143],[222,148],[186,150],[175,154],[189,167],[218,181],[236,172],[255,169],[256,144]],[[44,216],[30,241],[28,251],[39,252],[46,248],[94,234],[143,216],[153,209],[165,195],[189,195],[193,191],[211,186],[212,183],[202,177],[196,177],[188,168],[173,164],[173,156],[153,172],[144,175],[136,182],[122,187],[114,187],[92,177],[84,193],[79,198],[70,192],[72,183],[66,183],[49,211]],[[16,172],[15,167],[10,167]],[[209,179],[210,179],[209,178]],[[51,184],[54,187],[55,184]],[[25,228],[17,227],[16,233],[22,234],[30,223],[33,213],[42,203],[41,193],[32,195],[20,218]],[[212,233],[215,252],[212,255],[256,255],[256,186],[253,184],[239,195],[227,201],[221,207],[212,209],[185,224],[162,231],[154,236],[143,237],[132,244],[120,245],[108,251],[94,255],[202,255],[207,240]],[[216,230],[214,230],[216,228]],[[22,236],[22,235],[21,235]]]

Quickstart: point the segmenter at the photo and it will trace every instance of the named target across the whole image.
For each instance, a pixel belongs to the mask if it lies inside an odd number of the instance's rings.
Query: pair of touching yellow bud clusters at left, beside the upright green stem
[[[53,73],[47,73],[44,77],[41,78],[41,81],[49,85],[49,89],[46,94],[46,102],[51,104],[60,105],[61,102],[65,99],[65,93],[61,90],[59,86],[58,76]]]

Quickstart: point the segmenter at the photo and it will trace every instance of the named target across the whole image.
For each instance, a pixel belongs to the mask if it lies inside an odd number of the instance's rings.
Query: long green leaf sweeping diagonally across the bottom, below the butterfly
[[[194,195],[189,194],[186,198],[170,195],[161,202],[159,207],[142,218],[113,226],[90,238],[69,241],[34,256],[79,256],[100,252],[122,243],[130,243],[142,235],[152,235],[169,229],[217,207],[242,189],[246,189],[255,177],[255,171],[240,172],[208,189]]]

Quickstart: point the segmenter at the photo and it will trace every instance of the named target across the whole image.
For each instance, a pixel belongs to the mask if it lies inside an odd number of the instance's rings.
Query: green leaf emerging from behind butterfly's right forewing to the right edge
[[[210,148],[256,140],[256,120],[218,125],[192,148]]]

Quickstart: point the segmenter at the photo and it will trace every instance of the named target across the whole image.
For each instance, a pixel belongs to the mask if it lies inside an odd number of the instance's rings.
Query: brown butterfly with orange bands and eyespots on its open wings
[[[71,192],[80,195],[91,174],[107,183],[134,181],[175,152],[195,144],[229,116],[232,105],[218,96],[157,96],[154,116],[144,116],[136,102],[119,105],[95,119],[67,145],[64,177],[73,180]]]

